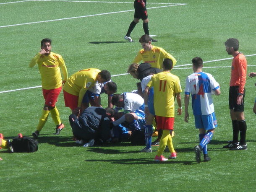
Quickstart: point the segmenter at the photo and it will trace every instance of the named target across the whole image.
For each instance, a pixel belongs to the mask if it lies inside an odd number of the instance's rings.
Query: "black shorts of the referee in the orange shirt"
[[[239,91],[239,86],[230,86],[229,87],[229,96],[228,96],[229,109],[233,109],[234,112],[243,112],[244,111],[244,98],[246,96],[246,89],[243,90],[243,103],[240,105],[236,104],[236,100],[238,97],[238,91]]]

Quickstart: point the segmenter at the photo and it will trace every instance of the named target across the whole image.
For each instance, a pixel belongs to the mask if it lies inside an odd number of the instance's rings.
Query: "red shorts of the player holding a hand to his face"
[[[61,92],[62,87],[56,89],[43,89],[43,96],[45,105],[54,107],[58,101],[58,96]]]

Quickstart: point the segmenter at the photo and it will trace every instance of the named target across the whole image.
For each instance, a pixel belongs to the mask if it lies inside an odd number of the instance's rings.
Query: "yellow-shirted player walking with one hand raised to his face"
[[[62,83],[65,83],[68,78],[68,71],[61,55],[51,52],[51,50],[51,39],[42,39],[41,51],[37,53],[29,63],[29,67],[34,67],[34,65],[38,64],[42,79],[42,91],[45,99],[42,116],[39,119],[37,130],[32,133],[35,139],[38,138],[39,132],[44,127],[49,113],[51,113],[52,119],[56,124],[55,135],[60,134],[60,131],[64,128],[64,125],[60,121],[60,114],[55,103],[57,102],[57,98],[62,89]],[[60,68],[64,76],[63,81]]]

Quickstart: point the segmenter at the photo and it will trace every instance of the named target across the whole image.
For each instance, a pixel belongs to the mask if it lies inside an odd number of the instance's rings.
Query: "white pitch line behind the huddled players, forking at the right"
[[[250,54],[250,55],[245,55],[246,57],[251,57],[251,56],[255,56],[256,54]],[[216,61],[223,61],[223,60],[230,60],[233,59],[233,57],[231,58],[225,58],[225,59],[219,59],[219,60],[212,60],[212,61],[205,61],[204,63],[208,63],[208,62],[216,62]],[[192,64],[185,64],[185,65],[178,65],[175,67],[181,67],[181,66],[186,66],[186,65],[192,65]],[[247,67],[254,67],[256,65],[247,65]],[[223,67],[230,67],[230,66],[213,66],[213,67],[204,67],[204,68],[223,68]],[[183,67],[183,68],[174,68],[174,69],[191,69],[191,67]],[[118,74],[118,75],[111,75],[112,77],[117,77],[117,76],[121,76],[121,75],[128,75],[129,73],[122,73],[122,74]],[[8,90],[8,91],[0,91],[0,93],[8,93],[8,92],[13,92],[13,91],[21,91],[21,90],[26,90],[26,89],[32,89],[32,88],[40,88],[42,86],[34,86],[34,87],[27,87],[27,88],[19,88],[19,89],[13,89],[13,90]]]

